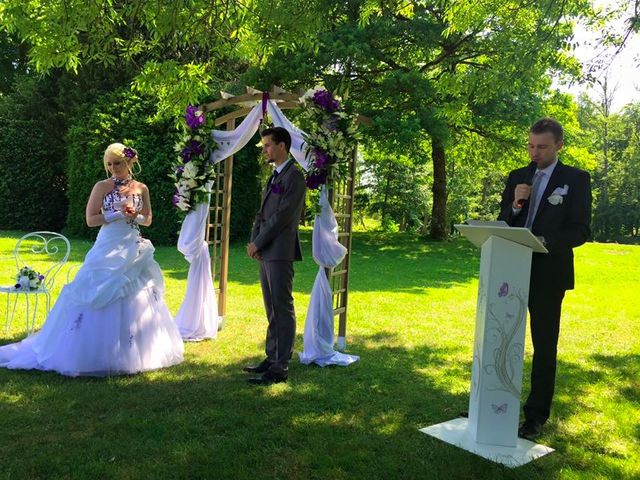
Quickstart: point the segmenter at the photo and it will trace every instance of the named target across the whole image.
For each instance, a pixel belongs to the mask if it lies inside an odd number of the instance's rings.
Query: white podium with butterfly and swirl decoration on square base
[[[547,250],[526,228],[455,227],[481,248],[469,417],[420,431],[516,467],[553,451],[518,438],[531,254]]]

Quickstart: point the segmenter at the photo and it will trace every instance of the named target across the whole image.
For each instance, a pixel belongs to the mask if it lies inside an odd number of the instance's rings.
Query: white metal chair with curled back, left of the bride
[[[55,232],[31,232],[18,240],[13,249],[13,258],[16,263],[17,272],[25,265],[29,265],[35,271],[44,275],[42,283],[37,289],[16,288],[15,285],[0,287],[0,293],[7,295],[7,311],[4,330],[5,333],[11,327],[11,322],[16,311],[16,305],[20,295],[24,295],[27,306],[27,335],[35,329],[36,315],[38,312],[38,298],[44,295],[46,299],[46,314],[51,310],[51,289],[53,288],[56,276],[67,263],[71,253],[71,244],[67,238]],[[15,282],[14,282],[15,283]],[[13,295],[13,308],[9,309],[9,300]],[[31,298],[35,298],[33,313],[30,314]]]

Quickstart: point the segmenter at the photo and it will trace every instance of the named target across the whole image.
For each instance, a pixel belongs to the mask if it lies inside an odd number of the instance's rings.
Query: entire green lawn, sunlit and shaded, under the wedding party
[[[12,281],[19,235],[0,235],[0,284]],[[89,246],[73,241],[72,264]],[[467,409],[478,251],[401,234],[358,233],[353,246],[347,347],[360,362],[294,362],[287,384],[247,385],[240,370],[261,358],[266,322],[256,265],[235,245],[225,328],[187,344],[183,364],[105,379],[0,369],[0,478],[640,477],[640,247],[576,250],[577,289],[564,302],[557,394],[540,439],[556,452],[508,469],[418,432]],[[304,250],[297,350],[317,271],[308,234]],[[171,247],[156,259],[175,313],[187,264]],[[16,320],[0,343],[23,335]],[[530,354],[527,338],[527,378]]]

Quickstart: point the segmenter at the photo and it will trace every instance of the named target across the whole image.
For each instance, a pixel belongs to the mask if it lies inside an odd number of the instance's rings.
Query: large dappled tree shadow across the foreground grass
[[[468,392],[451,388],[451,380],[470,364],[452,361],[457,348],[406,348],[398,341],[392,332],[353,337],[350,349],[360,362],[320,368],[294,361],[289,382],[269,387],[245,381],[241,367],[255,357],[205,360],[210,343],[188,345],[183,364],[143,375],[69,379],[0,369],[0,472],[6,478],[450,480],[556,479],[569,468],[586,470],[583,478],[592,478],[591,471],[625,478],[610,455],[589,455],[585,463],[584,452],[575,450],[591,446],[564,432],[551,430],[556,454],[515,470],[418,432],[466,410]],[[597,378],[561,365],[559,389],[579,396],[631,359],[605,360],[610,366]],[[557,415],[571,416],[572,408],[560,402]]]

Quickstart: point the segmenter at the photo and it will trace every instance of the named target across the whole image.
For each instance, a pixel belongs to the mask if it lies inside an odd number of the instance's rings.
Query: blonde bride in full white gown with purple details
[[[100,226],[96,243],[42,329],[0,347],[0,367],[105,376],[182,362],[154,247],[140,236],[139,225],[151,224],[151,204],[147,186],[131,177],[134,165],[135,150],[109,145],[110,178],[95,184],[87,202],[87,225]]]

